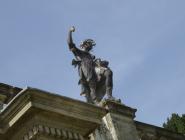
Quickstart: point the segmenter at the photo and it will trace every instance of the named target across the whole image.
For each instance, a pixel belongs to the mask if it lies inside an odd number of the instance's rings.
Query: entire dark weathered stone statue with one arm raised
[[[80,49],[76,47],[72,39],[72,32],[75,31],[71,27],[68,34],[68,46],[75,56],[72,65],[78,66],[78,74],[80,77],[81,94],[86,97],[88,103],[98,104],[106,94],[109,100],[114,100],[112,96],[112,71],[108,67],[108,61],[96,59],[90,53],[93,46],[96,45],[92,39],[86,39],[80,44]]]

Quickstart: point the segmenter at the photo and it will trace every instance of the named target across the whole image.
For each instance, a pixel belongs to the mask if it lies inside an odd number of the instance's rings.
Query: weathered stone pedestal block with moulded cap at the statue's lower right
[[[108,113],[91,140],[139,140],[133,120],[136,109],[112,101],[106,101],[104,107]]]

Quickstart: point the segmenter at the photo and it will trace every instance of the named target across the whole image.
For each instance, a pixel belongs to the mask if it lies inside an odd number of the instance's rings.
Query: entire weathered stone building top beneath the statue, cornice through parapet
[[[9,95],[4,89],[7,94],[0,95]],[[34,88],[12,97],[1,100],[7,104],[0,112],[0,140],[185,140],[134,121],[136,109],[110,100],[98,107]]]

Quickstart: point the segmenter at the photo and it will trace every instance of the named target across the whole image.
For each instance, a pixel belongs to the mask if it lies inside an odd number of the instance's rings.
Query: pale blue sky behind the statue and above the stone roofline
[[[185,113],[184,0],[1,0],[0,82],[84,100],[77,85],[74,41],[92,38],[110,61],[114,91],[137,108],[136,120],[161,126]]]

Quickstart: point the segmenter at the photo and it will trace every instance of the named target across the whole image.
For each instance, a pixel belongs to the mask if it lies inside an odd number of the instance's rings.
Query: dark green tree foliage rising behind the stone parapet
[[[185,114],[179,116],[173,113],[170,118],[167,118],[167,122],[163,124],[163,127],[173,132],[185,134]]]

